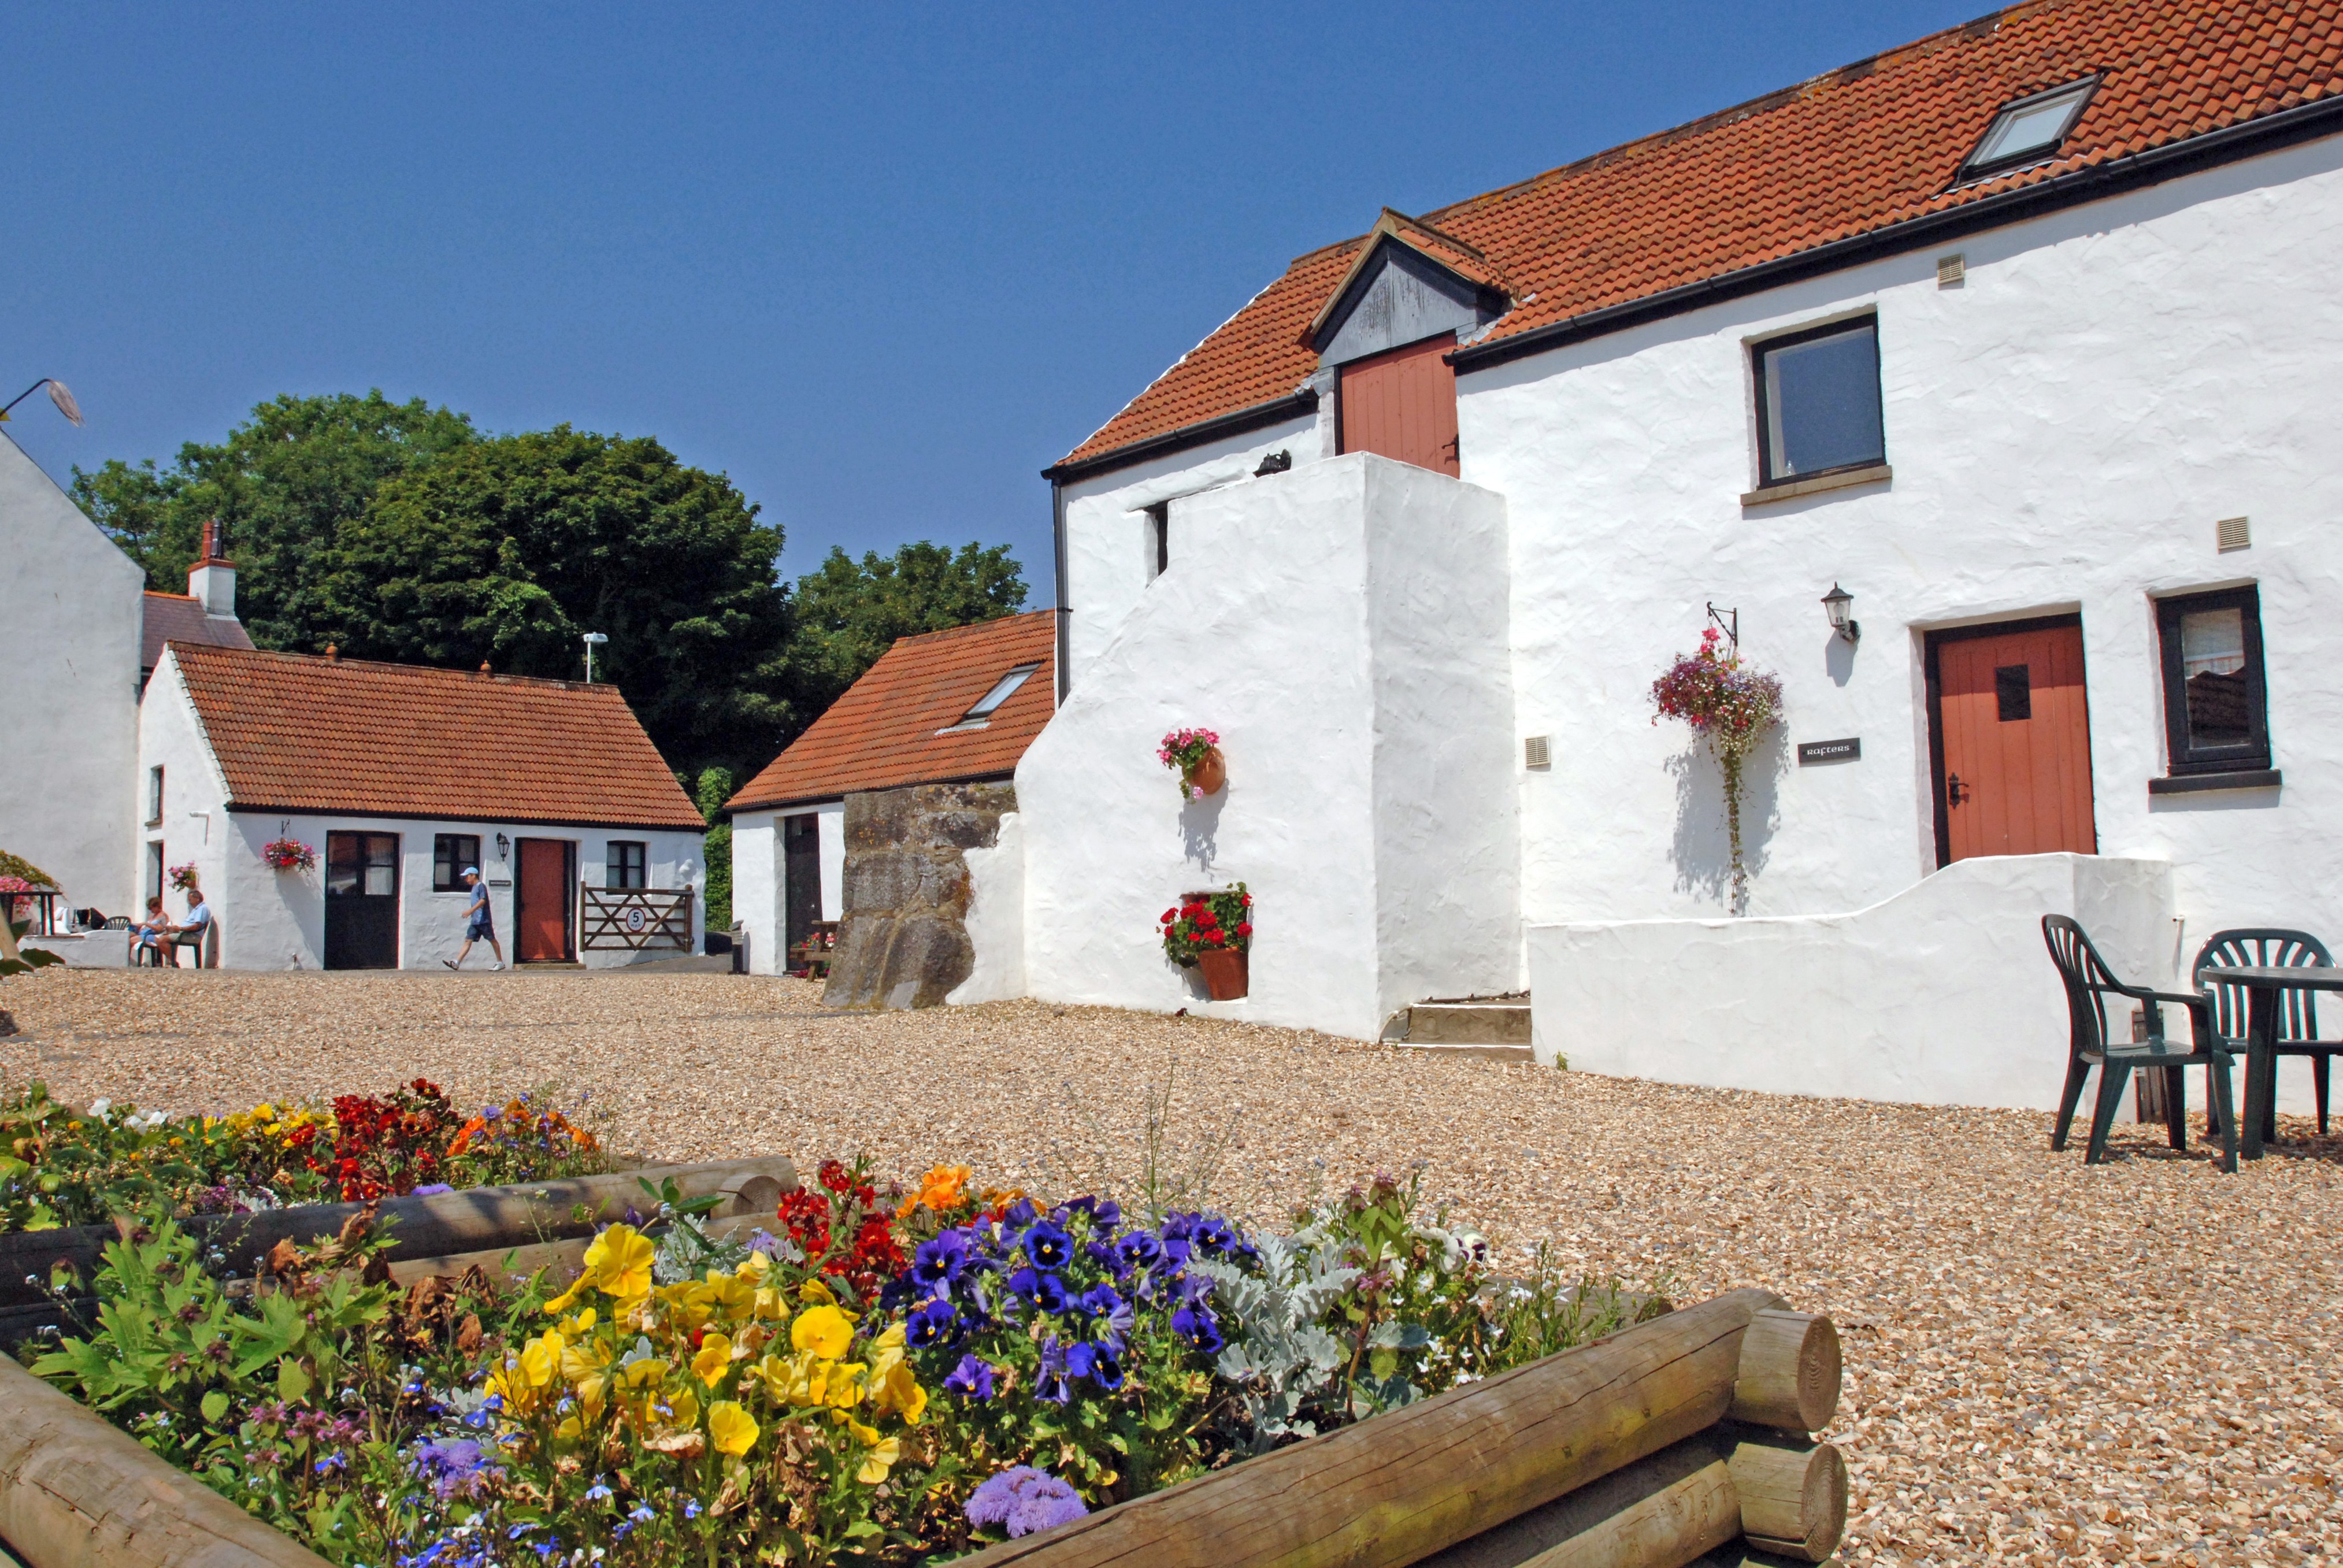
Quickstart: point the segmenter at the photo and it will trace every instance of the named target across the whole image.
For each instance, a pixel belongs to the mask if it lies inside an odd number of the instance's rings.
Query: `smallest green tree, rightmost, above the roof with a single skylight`
[[[867,551],[860,563],[832,546],[820,570],[797,579],[790,666],[799,710],[813,722],[895,638],[1015,614],[1024,598],[1005,544],[954,553],[921,539],[893,555]]]

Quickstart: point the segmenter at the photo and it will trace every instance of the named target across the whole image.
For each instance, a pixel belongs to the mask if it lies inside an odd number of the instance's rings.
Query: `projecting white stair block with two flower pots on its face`
[[[1373,1036],[1425,989],[1518,984],[1502,499],[1352,455],[1174,523],[1172,567],[1017,766],[1031,994],[1197,1005],[1155,921],[1239,879],[1244,1017]],[[1181,724],[1221,734],[1211,799],[1155,759]]]

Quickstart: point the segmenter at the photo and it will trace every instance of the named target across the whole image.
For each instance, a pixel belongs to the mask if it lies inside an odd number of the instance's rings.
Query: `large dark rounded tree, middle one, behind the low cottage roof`
[[[670,766],[769,757],[790,729],[780,530],[647,436],[478,438],[384,483],[316,581],[344,654],[614,682]]]

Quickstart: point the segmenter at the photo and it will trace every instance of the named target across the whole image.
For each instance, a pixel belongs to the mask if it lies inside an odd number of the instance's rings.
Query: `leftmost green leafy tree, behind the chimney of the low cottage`
[[[476,441],[471,420],[382,391],[279,396],[218,445],[190,441],[169,469],[108,462],[73,471],[73,499],[145,567],[148,588],[185,593],[204,520],[227,525],[237,612],[260,647],[319,652],[319,555],[375,490]]]

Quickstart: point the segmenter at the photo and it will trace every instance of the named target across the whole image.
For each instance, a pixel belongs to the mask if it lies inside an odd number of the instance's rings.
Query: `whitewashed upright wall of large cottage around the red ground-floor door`
[[[2235,923],[2343,938],[2343,143],[1945,248],[1959,288],[1910,255],[1462,377],[1464,478],[1511,509],[1521,729],[1553,736],[1525,919],[1722,907],[1715,764],[1645,698],[1715,600],[1788,703],[1746,818],[1753,912],[1858,909],[1935,867],[1924,628],[2081,609],[2099,851],[2172,863],[2188,954]],[[1893,483],[1743,511],[1746,342],[1856,309],[1879,312]],[[2216,555],[2240,513],[2254,548]],[[2151,799],[2151,595],[2240,581],[2284,790]],[[1788,762],[1837,736],[1863,759]]]

